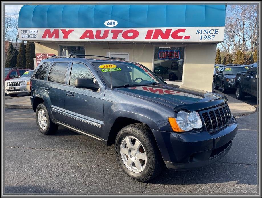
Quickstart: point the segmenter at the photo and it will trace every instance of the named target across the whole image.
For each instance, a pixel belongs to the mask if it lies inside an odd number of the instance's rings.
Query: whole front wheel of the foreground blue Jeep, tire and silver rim
[[[163,159],[145,124],[122,128],[115,140],[115,153],[119,166],[132,179],[146,182],[161,172]]]

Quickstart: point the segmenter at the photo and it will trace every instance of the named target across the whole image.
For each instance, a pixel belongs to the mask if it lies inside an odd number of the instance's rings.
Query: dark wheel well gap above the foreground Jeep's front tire
[[[125,117],[119,117],[115,120],[110,132],[109,132],[109,136],[108,136],[108,140],[107,140],[107,145],[110,146],[112,144],[115,144],[115,138],[118,134],[118,132],[125,126],[129,125],[129,124],[134,124],[134,123],[142,123],[139,122],[138,120],[134,120],[131,118],[125,118]]]

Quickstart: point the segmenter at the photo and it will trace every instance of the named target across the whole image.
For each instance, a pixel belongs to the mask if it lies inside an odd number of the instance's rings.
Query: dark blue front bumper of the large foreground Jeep
[[[238,122],[220,131],[184,133],[152,130],[159,150],[168,169],[187,170],[211,164],[228,153],[237,133]]]

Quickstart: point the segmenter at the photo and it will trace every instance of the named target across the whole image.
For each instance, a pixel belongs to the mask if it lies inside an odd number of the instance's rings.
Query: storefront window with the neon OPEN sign
[[[184,47],[155,47],[154,73],[164,81],[182,82]]]

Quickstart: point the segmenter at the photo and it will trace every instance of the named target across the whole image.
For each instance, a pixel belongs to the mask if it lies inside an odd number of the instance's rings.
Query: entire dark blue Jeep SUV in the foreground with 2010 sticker
[[[121,169],[143,182],[163,165],[200,167],[231,148],[238,122],[225,96],[166,84],[135,62],[55,57],[42,60],[31,77],[31,104],[42,134],[62,125],[115,144]]]

